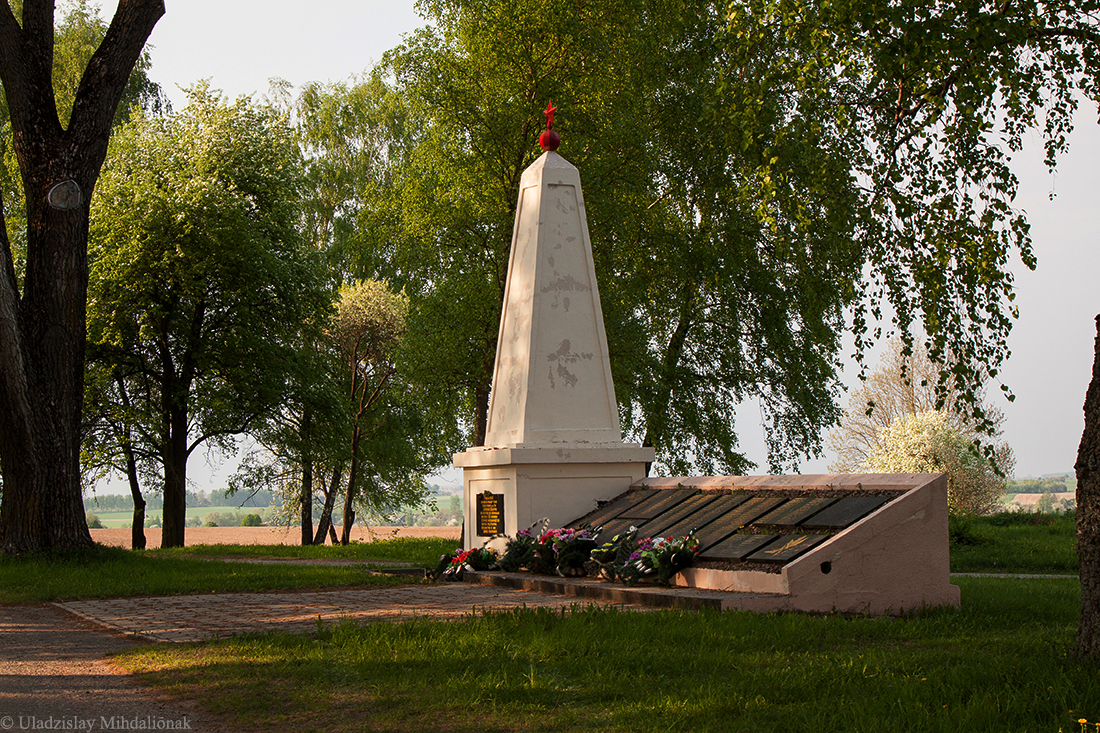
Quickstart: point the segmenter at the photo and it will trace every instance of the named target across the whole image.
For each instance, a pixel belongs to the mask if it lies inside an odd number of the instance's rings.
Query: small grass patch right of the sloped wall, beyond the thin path
[[[1027,513],[953,519],[952,571],[1076,575],[1074,522],[1072,514]]]

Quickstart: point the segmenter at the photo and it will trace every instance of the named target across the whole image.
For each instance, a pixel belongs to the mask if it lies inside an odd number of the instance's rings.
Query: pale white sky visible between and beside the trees
[[[410,0],[166,0],[165,4],[167,12],[150,37],[151,76],[176,107],[183,105],[180,89],[200,79],[209,79],[229,97],[263,95],[273,77],[296,86],[345,80],[369,69],[399,43],[403,33],[422,24]],[[103,17],[109,19],[114,7],[116,2],[103,2]],[[1003,378],[1016,400],[1010,404],[994,396],[1008,417],[1005,437],[1016,453],[1018,478],[1071,471],[1084,429],[1093,318],[1100,313],[1096,110],[1079,112],[1077,124],[1056,177],[1042,165],[1037,139],[1013,162],[1021,179],[1016,206],[1028,215],[1038,258],[1035,272],[1022,265],[1014,269],[1020,320],[1010,339],[1013,354]],[[854,382],[855,370],[849,372]],[[759,419],[755,408],[747,407],[738,415],[741,442],[763,470]],[[829,460],[807,461],[802,471],[824,471]],[[211,475],[198,457],[188,469],[199,489],[223,485],[226,471]],[[124,489],[116,484],[107,491]]]

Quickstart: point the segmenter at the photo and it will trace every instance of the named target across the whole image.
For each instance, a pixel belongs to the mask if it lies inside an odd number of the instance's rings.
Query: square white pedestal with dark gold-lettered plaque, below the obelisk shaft
[[[623,442],[514,445],[457,453],[466,506],[462,546],[480,547],[495,534],[515,537],[542,518],[561,527],[645,478],[652,460],[652,448]]]

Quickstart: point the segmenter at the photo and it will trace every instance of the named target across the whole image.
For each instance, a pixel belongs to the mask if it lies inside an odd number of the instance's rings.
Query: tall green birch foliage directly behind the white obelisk
[[[713,3],[421,10],[431,25],[354,87],[364,150],[387,168],[350,243],[353,266],[406,287],[405,359],[430,374],[440,418],[483,437],[518,180],[552,98],[585,183],[627,437],[673,472],[744,472],[732,415],[759,397],[773,467],[816,451],[861,264],[855,182],[820,111],[754,87],[750,128],[717,114],[741,98],[719,85]]]

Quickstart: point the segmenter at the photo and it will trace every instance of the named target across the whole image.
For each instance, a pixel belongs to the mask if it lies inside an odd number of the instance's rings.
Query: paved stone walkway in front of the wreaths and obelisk
[[[308,592],[208,593],[56,603],[91,623],[156,642],[201,642],[248,632],[308,632],[344,619],[457,619],[474,611],[640,605],[463,582]]]

